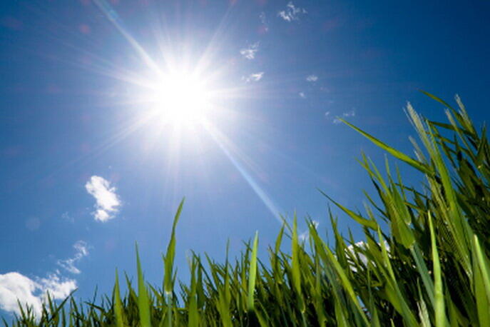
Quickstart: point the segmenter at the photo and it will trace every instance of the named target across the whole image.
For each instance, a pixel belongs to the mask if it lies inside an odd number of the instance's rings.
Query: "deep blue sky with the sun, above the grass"
[[[184,281],[190,249],[220,259],[228,240],[235,255],[259,231],[265,256],[278,214],[296,212],[302,230],[310,216],[327,232],[317,188],[361,208],[371,187],[355,159],[361,151],[383,159],[337,117],[407,152],[407,101],[444,119],[418,89],[459,94],[477,124],[489,119],[489,9],[486,1],[2,1],[0,312],[14,313],[16,298],[39,308],[43,291],[111,291],[116,267],[134,273],[136,241],[146,278],[160,283],[160,253],[184,196],[176,258]],[[195,111],[160,110],[200,99],[198,120]],[[340,215],[340,226],[352,224]]]

